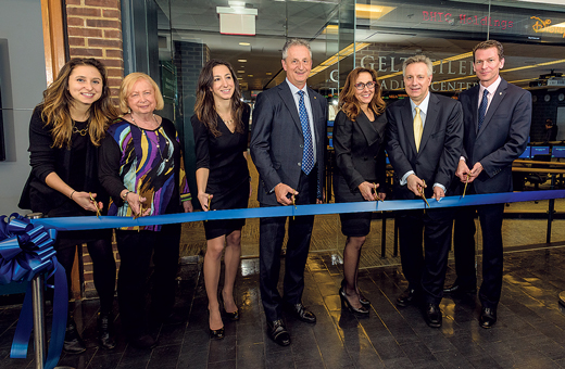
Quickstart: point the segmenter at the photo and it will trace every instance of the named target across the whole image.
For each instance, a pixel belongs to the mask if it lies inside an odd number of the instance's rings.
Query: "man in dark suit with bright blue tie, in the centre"
[[[306,86],[312,69],[310,44],[290,39],[282,48],[287,79],[258,96],[251,131],[251,157],[260,180],[262,207],[322,203],[327,102]],[[278,344],[290,344],[281,307],[302,321],[315,315],[302,305],[304,267],[314,216],[289,219],[282,297],[277,283],[285,217],[260,219],[260,287],[268,333]]]

